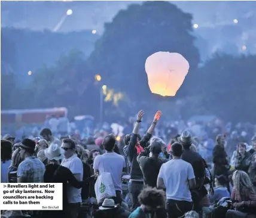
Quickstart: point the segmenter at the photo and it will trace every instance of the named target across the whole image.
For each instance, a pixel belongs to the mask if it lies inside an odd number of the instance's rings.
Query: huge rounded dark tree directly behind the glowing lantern
[[[158,51],[178,52],[189,61],[191,72],[197,67],[200,58],[191,20],[190,14],[169,2],[130,5],[105,24],[88,60],[90,72],[99,73],[106,85],[126,92],[137,105],[150,101],[153,95],[144,67],[148,56]]]

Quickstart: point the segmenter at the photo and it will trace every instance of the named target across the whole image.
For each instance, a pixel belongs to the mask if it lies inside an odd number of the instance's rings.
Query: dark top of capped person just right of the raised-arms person
[[[144,151],[138,155],[137,161],[142,170],[144,185],[154,188],[157,186],[157,176],[159,175],[161,165],[166,163],[168,160],[161,157],[148,157],[149,154],[150,150],[148,148],[144,148]]]

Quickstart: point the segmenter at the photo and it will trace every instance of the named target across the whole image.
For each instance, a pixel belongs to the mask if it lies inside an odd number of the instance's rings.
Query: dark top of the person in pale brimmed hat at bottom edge
[[[94,218],[128,218],[129,215],[130,212],[124,210],[120,205],[109,210],[95,210],[93,212]]]

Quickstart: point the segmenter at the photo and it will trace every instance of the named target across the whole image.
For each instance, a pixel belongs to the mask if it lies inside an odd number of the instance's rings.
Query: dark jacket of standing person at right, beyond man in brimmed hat
[[[215,145],[214,150],[212,151],[213,162],[214,162],[214,176],[227,175],[229,170],[227,153],[221,145]]]

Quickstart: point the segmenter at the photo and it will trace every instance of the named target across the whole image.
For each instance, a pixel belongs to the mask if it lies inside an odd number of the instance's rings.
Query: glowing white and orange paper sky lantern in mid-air
[[[181,54],[160,51],[150,55],[145,70],[151,92],[161,96],[175,96],[189,68],[188,61]]]

